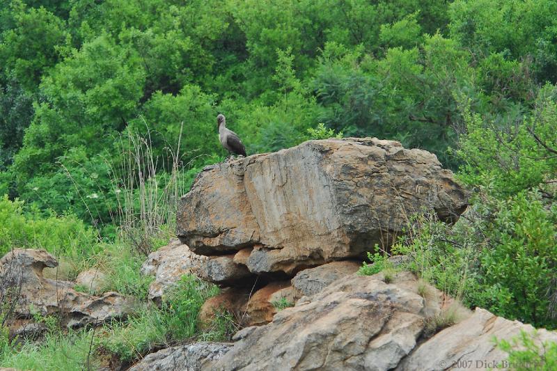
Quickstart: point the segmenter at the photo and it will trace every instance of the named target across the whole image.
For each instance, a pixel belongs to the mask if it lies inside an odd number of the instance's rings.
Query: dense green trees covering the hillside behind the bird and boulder
[[[114,223],[120,179],[111,169],[127,161],[120,135],[149,131],[157,167],[173,153],[180,171],[198,169],[224,154],[218,112],[249,153],[295,145],[324,123],[466,165],[448,151],[466,117],[501,128],[535,111],[536,96],[554,101],[551,86],[539,87],[557,81],[556,7],[4,1],[0,191],[40,210]]]

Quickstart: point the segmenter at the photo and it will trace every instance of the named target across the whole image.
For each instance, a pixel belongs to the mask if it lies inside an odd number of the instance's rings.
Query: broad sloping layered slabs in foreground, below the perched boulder
[[[471,313],[420,285],[408,272],[391,283],[382,274],[346,275],[269,324],[240,330],[231,344],[164,349],[132,370],[500,370],[512,365],[494,338],[512,341],[526,331],[540,349],[557,342],[555,331],[535,331],[481,308]],[[444,315],[457,324],[427,338],[432,319]]]

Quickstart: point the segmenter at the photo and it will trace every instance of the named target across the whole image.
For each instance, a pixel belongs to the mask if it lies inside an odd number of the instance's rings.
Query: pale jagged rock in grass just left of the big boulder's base
[[[149,286],[149,299],[160,301],[164,293],[185,274],[197,274],[199,267],[209,260],[196,255],[178,239],[171,239],[167,246],[150,253],[141,266],[141,274],[155,276]]]

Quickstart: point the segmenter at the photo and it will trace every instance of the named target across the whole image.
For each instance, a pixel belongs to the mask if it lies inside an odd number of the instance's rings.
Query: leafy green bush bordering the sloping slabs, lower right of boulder
[[[469,306],[554,328],[557,213],[538,194],[484,198],[453,229],[418,217],[395,248],[425,280]]]

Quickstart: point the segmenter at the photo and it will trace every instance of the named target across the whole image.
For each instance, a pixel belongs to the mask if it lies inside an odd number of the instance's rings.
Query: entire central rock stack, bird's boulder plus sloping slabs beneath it
[[[465,206],[434,155],[393,141],[309,141],[209,166],[182,198],[178,235],[207,255],[196,274],[230,286],[201,308],[202,326],[228,310],[244,329],[229,345],[164,349],[134,370],[494,367],[477,363],[506,359],[492,336],[531,326],[472,313],[409,272],[356,273],[363,252],[388,248],[412,212],[455,221]],[[557,341],[540,334],[538,343]]]

